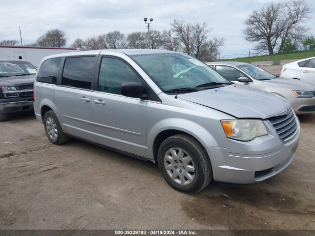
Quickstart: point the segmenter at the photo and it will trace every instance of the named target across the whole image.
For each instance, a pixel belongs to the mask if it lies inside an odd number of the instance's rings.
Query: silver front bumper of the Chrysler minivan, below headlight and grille
[[[249,142],[229,139],[230,148],[207,147],[216,181],[248,184],[283,171],[293,160],[300,136],[300,125],[290,140],[282,141],[272,125],[265,121],[269,135]]]

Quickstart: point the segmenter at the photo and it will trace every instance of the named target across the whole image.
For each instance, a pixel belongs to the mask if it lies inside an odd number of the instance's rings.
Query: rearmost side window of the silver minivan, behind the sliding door
[[[51,58],[45,60],[40,65],[36,80],[38,82],[56,85],[60,61],[61,58]]]

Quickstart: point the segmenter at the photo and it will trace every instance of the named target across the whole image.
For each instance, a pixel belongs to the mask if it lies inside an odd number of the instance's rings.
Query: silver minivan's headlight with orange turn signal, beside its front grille
[[[225,135],[240,141],[250,141],[267,135],[267,129],[260,119],[226,119],[221,120]]]

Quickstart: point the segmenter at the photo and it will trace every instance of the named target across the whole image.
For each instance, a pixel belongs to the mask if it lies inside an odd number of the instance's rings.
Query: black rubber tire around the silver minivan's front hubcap
[[[185,169],[184,163],[181,167],[177,167],[176,170],[168,171],[165,169],[164,158],[165,154],[172,148],[181,148],[187,155],[190,156],[192,163],[194,165],[194,178],[188,184],[181,184],[173,180],[168,173],[174,173],[178,168]],[[167,161],[167,159],[165,159]],[[191,163],[191,162],[190,162]],[[178,163],[179,164],[179,163]],[[174,164],[175,165],[175,164]],[[212,180],[212,167],[210,159],[202,146],[194,138],[186,134],[176,134],[167,138],[158,149],[158,167],[162,172],[163,177],[166,182],[174,189],[188,193],[194,194],[200,192],[202,189],[207,187]],[[187,166],[186,166],[187,168]],[[179,170],[184,171],[184,170]],[[187,171],[187,169],[186,169]],[[182,173],[182,172],[181,172]],[[179,177],[178,177],[179,178]],[[185,177],[185,181],[189,180]],[[180,181],[179,179],[177,181]]]

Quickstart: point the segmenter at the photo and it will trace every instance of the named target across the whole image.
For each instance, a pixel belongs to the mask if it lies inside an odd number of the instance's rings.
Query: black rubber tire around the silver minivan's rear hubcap
[[[50,118],[50,120],[53,119],[55,121],[54,124],[56,125],[55,128],[57,129],[57,137],[55,137],[55,138],[53,138],[49,135],[48,129],[46,127],[46,121],[49,118]],[[48,111],[45,113],[43,123],[44,123],[45,133],[46,133],[50,142],[52,142],[53,144],[56,144],[56,145],[61,145],[61,144],[64,144],[65,142],[68,141],[69,138],[65,133],[63,133],[63,129],[59,123],[59,120],[53,111]]]

